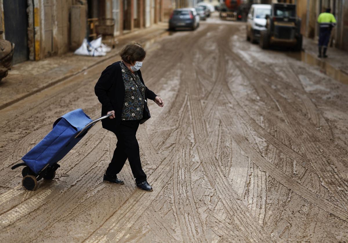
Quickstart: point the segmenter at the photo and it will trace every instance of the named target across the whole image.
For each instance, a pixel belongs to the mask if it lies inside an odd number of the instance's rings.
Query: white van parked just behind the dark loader
[[[270,4],[253,4],[246,21],[246,39],[251,43],[260,40],[260,32],[266,30],[266,15],[271,15]]]

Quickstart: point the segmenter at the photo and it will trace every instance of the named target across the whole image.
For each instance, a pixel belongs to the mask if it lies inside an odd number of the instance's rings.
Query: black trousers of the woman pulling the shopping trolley
[[[117,137],[117,144],[109,167],[106,169],[106,175],[117,178],[117,174],[120,173],[128,158],[135,182],[146,181],[146,174],[141,168],[139,144],[135,136],[139,123],[140,120],[122,120],[118,129],[113,131]]]

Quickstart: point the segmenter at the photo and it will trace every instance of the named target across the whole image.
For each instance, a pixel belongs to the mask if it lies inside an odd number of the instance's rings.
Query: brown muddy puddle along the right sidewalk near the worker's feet
[[[318,66],[322,73],[336,79],[341,83],[348,84],[348,74],[343,72],[342,70],[334,68],[325,60],[318,59],[304,51],[301,51],[300,53],[287,53],[286,55],[299,61],[303,61],[309,65]]]

